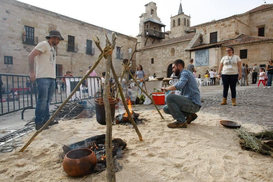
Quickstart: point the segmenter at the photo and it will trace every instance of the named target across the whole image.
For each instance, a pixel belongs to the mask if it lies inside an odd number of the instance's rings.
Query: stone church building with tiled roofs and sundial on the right
[[[149,9],[156,9],[156,4],[150,2],[145,7],[146,12],[140,18],[151,18]],[[141,19],[140,25],[143,22]],[[148,76],[156,73],[169,77],[174,60],[183,59],[188,64],[193,58],[197,72],[203,74],[207,69],[218,70],[226,47],[233,46],[242,63],[265,67],[272,59],[272,22],[273,4],[265,4],[239,15],[190,26],[190,15],[184,14],[180,3],[178,14],[170,18],[170,31],[164,32],[165,39],[153,41],[154,37],[140,29],[137,37],[141,52],[137,54],[137,64],[143,66]]]

